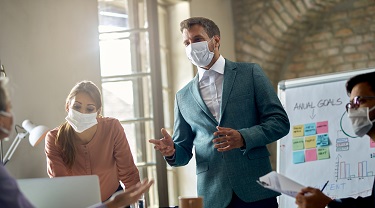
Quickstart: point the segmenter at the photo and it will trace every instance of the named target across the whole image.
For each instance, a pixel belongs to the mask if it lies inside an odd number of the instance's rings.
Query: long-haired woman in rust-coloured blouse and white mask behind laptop
[[[120,121],[100,114],[101,98],[93,82],[78,82],[66,98],[66,121],[46,135],[45,153],[49,177],[97,175],[105,201],[123,189],[120,181],[129,188],[140,178]]]

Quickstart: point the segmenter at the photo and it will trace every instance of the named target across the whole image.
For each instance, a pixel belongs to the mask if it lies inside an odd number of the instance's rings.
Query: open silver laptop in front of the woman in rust
[[[37,208],[84,208],[101,202],[96,175],[17,179],[17,183]]]

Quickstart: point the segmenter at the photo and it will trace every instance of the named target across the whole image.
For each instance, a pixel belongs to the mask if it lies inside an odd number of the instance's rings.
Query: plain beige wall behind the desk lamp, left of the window
[[[15,124],[58,126],[76,82],[101,85],[97,1],[1,0],[0,59]],[[3,142],[4,151],[15,136]],[[16,178],[47,177],[44,141],[34,148],[22,141],[6,167]]]

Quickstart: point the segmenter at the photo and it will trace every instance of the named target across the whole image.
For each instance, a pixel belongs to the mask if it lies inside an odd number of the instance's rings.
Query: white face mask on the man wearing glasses
[[[374,109],[375,106],[371,109],[369,109],[368,107],[349,109],[348,116],[352,122],[354,133],[357,136],[363,137],[372,128],[373,122],[375,122],[375,120],[370,120],[369,113]]]

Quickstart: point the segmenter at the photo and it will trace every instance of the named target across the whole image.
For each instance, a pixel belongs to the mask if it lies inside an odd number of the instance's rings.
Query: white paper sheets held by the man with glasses
[[[260,177],[259,181],[257,182],[265,188],[280,192],[282,194],[286,194],[294,198],[296,197],[297,193],[305,187],[275,171],[272,171],[267,175]]]

